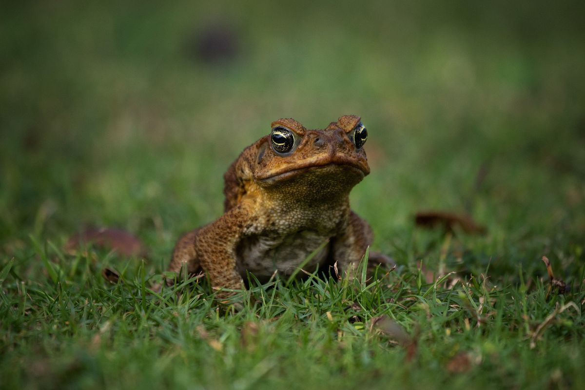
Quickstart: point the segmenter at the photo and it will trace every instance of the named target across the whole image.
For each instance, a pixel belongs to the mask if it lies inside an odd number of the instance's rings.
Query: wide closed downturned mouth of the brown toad
[[[358,176],[360,180],[370,173],[369,169],[364,168],[362,165],[356,163],[356,161],[348,158],[336,158],[333,161],[329,159],[319,162],[307,161],[307,163],[296,165],[296,167],[292,169],[290,167],[284,167],[274,172],[268,172],[266,175],[259,175],[256,177],[256,181],[261,184],[274,184],[276,182],[297,177],[309,171],[317,170],[331,170],[335,171],[337,174],[339,174],[339,170],[345,170],[352,172],[352,174]]]

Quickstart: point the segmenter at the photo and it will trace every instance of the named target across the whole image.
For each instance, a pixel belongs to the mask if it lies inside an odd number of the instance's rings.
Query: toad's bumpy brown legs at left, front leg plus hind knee
[[[214,289],[243,289],[242,277],[236,269],[236,246],[249,220],[246,203],[240,203],[215,222],[185,234],[173,252],[170,271],[181,265],[188,269],[203,268]],[[230,291],[218,292],[219,299],[229,298]]]

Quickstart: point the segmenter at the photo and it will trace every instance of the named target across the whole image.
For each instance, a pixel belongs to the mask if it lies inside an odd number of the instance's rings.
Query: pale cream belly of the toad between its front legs
[[[281,276],[290,275],[329,238],[312,230],[301,230],[283,237],[245,237],[238,246],[238,271],[245,280],[248,271],[261,282],[270,279],[274,271],[278,271]],[[302,269],[314,272],[319,267],[322,270],[329,265],[325,264],[328,253],[329,245],[326,245]]]

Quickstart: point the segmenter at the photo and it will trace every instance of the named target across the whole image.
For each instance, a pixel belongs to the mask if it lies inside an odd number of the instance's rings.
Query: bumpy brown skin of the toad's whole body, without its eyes
[[[349,192],[370,172],[365,151],[350,139],[359,122],[345,115],[324,130],[307,130],[293,119],[273,122],[294,132],[298,146],[281,156],[269,135],[247,147],[224,175],[225,213],[181,237],[169,271],[186,264],[188,272],[207,272],[214,288],[242,289],[246,271],[260,281],[276,270],[291,274],[326,240],[305,268],[337,261],[348,270],[359,262],[373,239],[349,206]],[[370,260],[391,262],[376,253]]]

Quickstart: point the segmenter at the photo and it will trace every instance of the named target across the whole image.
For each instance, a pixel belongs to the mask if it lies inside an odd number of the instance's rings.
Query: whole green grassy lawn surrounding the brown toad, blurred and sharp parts
[[[1,387],[585,388],[582,8],[3,10]],[[218,20],[238,55],[210,65],[187,43]],[[252,283],[238,312],[205,279],[149,294],[180,234],[221,214],[223,172],[272,120],[346,113],[370,136],[352,205],[396,270]],[[418,229],[422,209],[470,213],[487,234]],[[149,256],[67,254],[88,225],[135,233]]]

